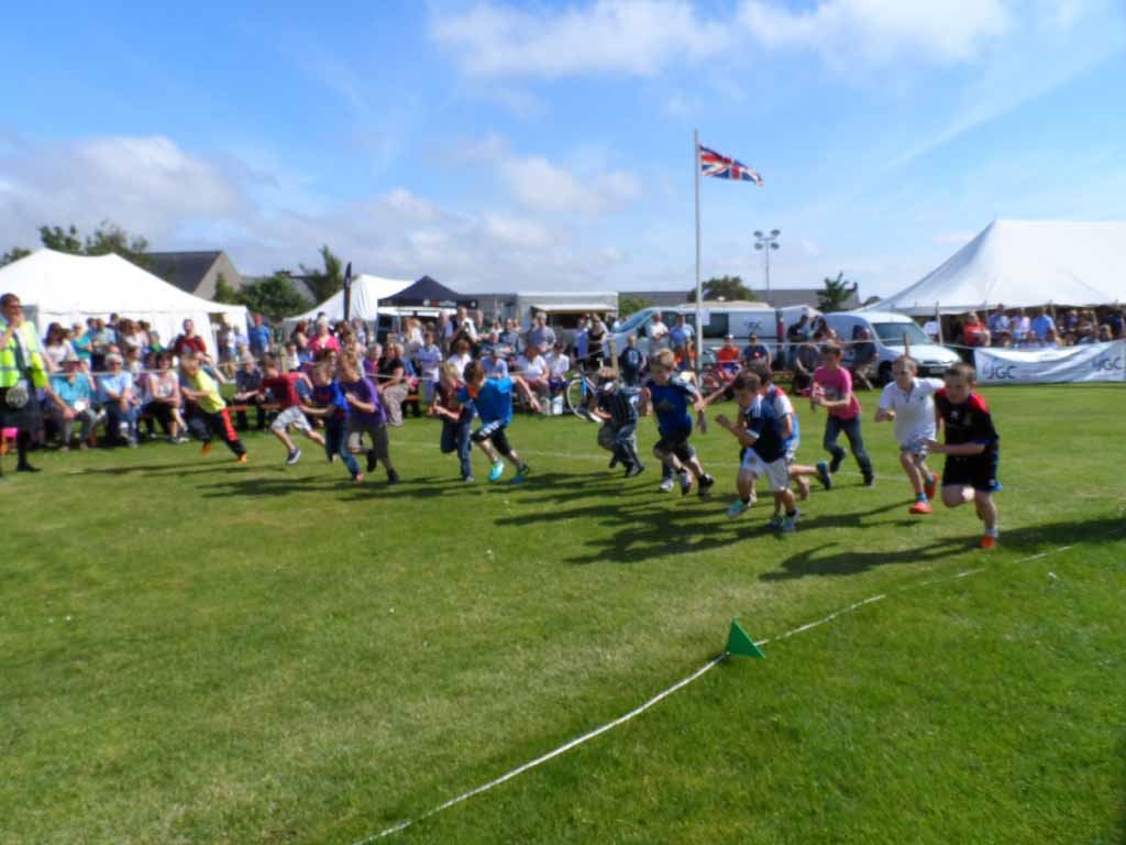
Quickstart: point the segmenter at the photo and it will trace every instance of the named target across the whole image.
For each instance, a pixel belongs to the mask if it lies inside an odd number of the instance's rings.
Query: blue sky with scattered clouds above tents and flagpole
[[[1126,217],[1121,0],[57,2],[6,12],[0,248],[102,220],[244,273],[863,295],[994,216]]]

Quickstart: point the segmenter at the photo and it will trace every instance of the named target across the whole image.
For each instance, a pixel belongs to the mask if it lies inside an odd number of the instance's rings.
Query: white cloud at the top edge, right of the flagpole
[[[806,47],[847,63],[902,57],[939,64],[976,57],[1003,37],[1012,18],[1004,0],[820,0],[792,11],[775,0],[745,0],[740,21],[767,47]]]

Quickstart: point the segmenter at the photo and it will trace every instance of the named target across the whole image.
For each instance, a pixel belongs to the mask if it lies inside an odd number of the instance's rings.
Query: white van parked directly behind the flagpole
[[[751,335],[757,335],[759,341],[774,349],[778,344],[778,312],[765,302],[703,302],[704,313],[704,349],[718,349],[727,335],[735,337],[740,348],[747,346]],[[668,308],[645,308],[627,317],[616,330],[610,332],[617,349],[625,349],[631,335],[637,336],[637,346],[649,353],[649,327],[653,317],[660,313],[661,319],[670,329],[676,326],[677,317],[685,315],[688,326],[692,327],[696,337],[696,303],[686,302]]]

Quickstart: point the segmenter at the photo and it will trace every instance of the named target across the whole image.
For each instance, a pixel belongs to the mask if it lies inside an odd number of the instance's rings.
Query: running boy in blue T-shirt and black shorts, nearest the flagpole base
[[[681,374],[673,375],[677,367],[671,349],[660,349],[649,364],[650,377],[641,393],[642,407],[652,406],[656,412],[656,430],[660,439],[653,446],[653,454],[673,475],[680,479],[680,492],[687,496],[692,480],[697,479],[699,497],[706,499],[715,479],[704,472],[696,450],[688,439],[692,436],[692,410],[703,411],[707,404],[696,385]],[[672,479],[661,481],[661,492],[672,489]]]

